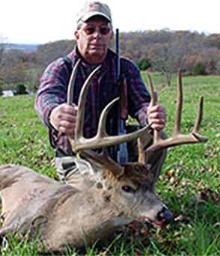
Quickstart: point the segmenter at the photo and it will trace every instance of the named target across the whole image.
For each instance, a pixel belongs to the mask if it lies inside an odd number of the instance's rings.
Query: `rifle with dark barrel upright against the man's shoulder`
[[[120,43],[119,29],[116,29],[116,53],[117,53],[117,83],[120,87],[120,102],[117,111],[117,134],[126,134],[125,124],[128,118],[128,99],[126,78],[120,74]],[[128,162],[128,150],[126,142],[117,146],[117,162],[122,164]]]

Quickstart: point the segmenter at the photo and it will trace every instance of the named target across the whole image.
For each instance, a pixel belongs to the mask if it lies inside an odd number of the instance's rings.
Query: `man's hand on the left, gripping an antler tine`
[[[76,115],[78,107],[63,103],[54,109],[49,116],[49,122],[59,132],[74,133],[76,127]]]

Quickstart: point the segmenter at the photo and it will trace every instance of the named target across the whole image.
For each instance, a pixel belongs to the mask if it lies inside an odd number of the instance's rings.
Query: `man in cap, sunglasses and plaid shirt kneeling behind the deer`
[[[82,84],[89,73],[101,64],[100,73],[91,82],[85,106],[84,135],[90,138],[96,134],[100,112],[118,96],[117,55],[109,49],[114,33],[111,11],[106,4],[98,1],[87,2],[77,17],[76,48],[70,52],[68,58],[59,58],[46,68],[37,91],[35,109],[43,124],[49,128],[49,138],[55,147],[56,169],[61,179],[78,189],[87,189],[92,183],[93,168],[86,159],[76,157],[67,134],[75,132],[77,103]],[[67,85],[79,58],[81,62],[73,88],[74,104],[68,106]],[[136,118],[141,125],[153,122],[153,129],[162,130],[165,127],[166,110],[160,105],[150,106],[150,94],[138,68],[132,61],[120,58],[120,71],[126,77],[129,115]],[[109,120],[115,119],[115,110],[109,116]],[[114,124],[109,122],[108,128],[112,133]],[[149,146],[152,135],[146,132],[145,137],[145,145]],[[132,153],[133,150],[130,149],[129,152]],[[155,156],[152,160],[153,168],[160,170],[164,159],[165,152]],[[135,157],[130,154],[129,160],[135,160]]]

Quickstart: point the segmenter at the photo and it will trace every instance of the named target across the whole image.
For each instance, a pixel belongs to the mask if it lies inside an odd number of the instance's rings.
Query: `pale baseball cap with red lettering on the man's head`
[[[92,16],[97,15],[103,16],[111,22],[111,10],[107,4],[100,1],[87,1],[77,14],[77,23],[80,21],[86,22]]]

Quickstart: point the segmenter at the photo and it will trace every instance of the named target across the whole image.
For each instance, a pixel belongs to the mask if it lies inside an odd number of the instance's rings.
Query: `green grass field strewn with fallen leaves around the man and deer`
[[[142,75],[146,80],[146,74]],[[158,74],[152,74],[152,79],[159,103],[167,108],[165,132],[171,135],[176,86],[166,87]],[[63,255],[220,255],[220,78],[183,77],[183,85],[182,131],[192,130],[203,95],[201,133],[210,140],[168,152],[156,191],[174,213],[174,222],[163,229],[127,226],[102,245],[79,252],[67,248]],[[0,138],[0,165],[26,165],[54,177],[54,153],[47,129],[34,112],[33,95],[0,97]],[[5,256],[39,255],[34,241],[20,241],[16,236],[8,236],[0,252]]]

